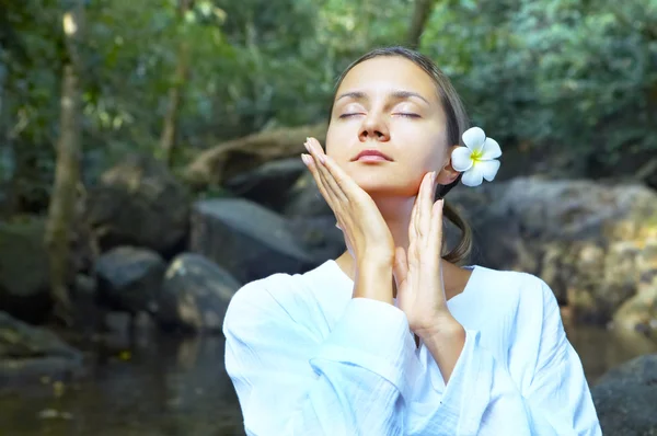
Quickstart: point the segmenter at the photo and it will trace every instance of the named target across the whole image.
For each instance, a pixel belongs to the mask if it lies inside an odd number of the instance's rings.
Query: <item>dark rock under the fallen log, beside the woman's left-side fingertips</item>
[[[286,206],[288,191],[307,171],[300,158],[281,159],[235,175],[226,182],[224,187],[240,197],[280,213]]]

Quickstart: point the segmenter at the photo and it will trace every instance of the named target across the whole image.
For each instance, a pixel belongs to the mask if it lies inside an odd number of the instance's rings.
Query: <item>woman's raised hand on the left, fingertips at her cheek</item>
[[[335,214],[357,267],[392,265],[394,241],[372,198],[324,153],[316,139],[308,138],[304,146],[310,156],[302,154],[301,159]]]

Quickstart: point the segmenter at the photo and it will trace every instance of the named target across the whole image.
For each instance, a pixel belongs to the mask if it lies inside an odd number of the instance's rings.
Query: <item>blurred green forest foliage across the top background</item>
[[[0,181],[44,204],[53,177],[66,50],[64,0],[0,0]],[[326,117],[337,74],[404,42],[412,0],[87,2],[84,176],[126,153],[158,154],[182,41],[191,74],[183,164],[218,141]],[[473,121],[505,147],[613,162],[656,151],[657,0],[437,0],[422,39]],[[1,202],[0,196],[0,202]]]

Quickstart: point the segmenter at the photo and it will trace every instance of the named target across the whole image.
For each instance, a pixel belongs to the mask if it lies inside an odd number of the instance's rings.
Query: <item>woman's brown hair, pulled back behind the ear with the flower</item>
[[[457,93],[457,90],[452,85],[449,78],[438,68],[438,66],[429,59],[427,56],[424,56],[415,50],[412,50],[406,47],[393,46],[393,47],[383,47],[376,48],[360,58],[356,59],[351,65],[349,65],[343,73],[338,77],[337,82],[335,84],[335,91],[339,88],[344,78],[347,73],[356,67],[358,64],[361,64],[366,60],[373,59],[377,57],[402,57],[408,59],[419,68],[422,68],[434,81],[436,84],[436,90],[438,91],[438,95],[440,97],[440,102],[442,103],[442,110],[445,111],[445,115],[447,116],[447,140],[449,145],[461,144],[461,136],[463,131],[465,131],[470,127],[470,119],[468,114],[465,113],[465,108],[463,103],[461,102],[461,97]],[[334,99],[335,100],[335,99]],[[328,112],[328,116],[333,113],[333,103],[331,104],[331,110]],[[450,183],[449,185],[441,185],[438,190],[436,196],[438,198],[445,197],[447,193],[451,191],[452,187],[459,184],[461,181],[461,175]],[[445,217],[452,222],[460,231],[461,238],[456,246],[446,255],[442,256],[448,262],[452,263],[463,263],[472,251],[472,229],[470,225],[461,217],[459,211],[445,202],[443,209]]]

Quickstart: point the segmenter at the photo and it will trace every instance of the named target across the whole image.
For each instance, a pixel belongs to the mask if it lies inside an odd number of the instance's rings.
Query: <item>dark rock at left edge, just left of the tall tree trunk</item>
[[[45,228],[43,219],[0,223],[0,310],[32,323],[51,306]]]

